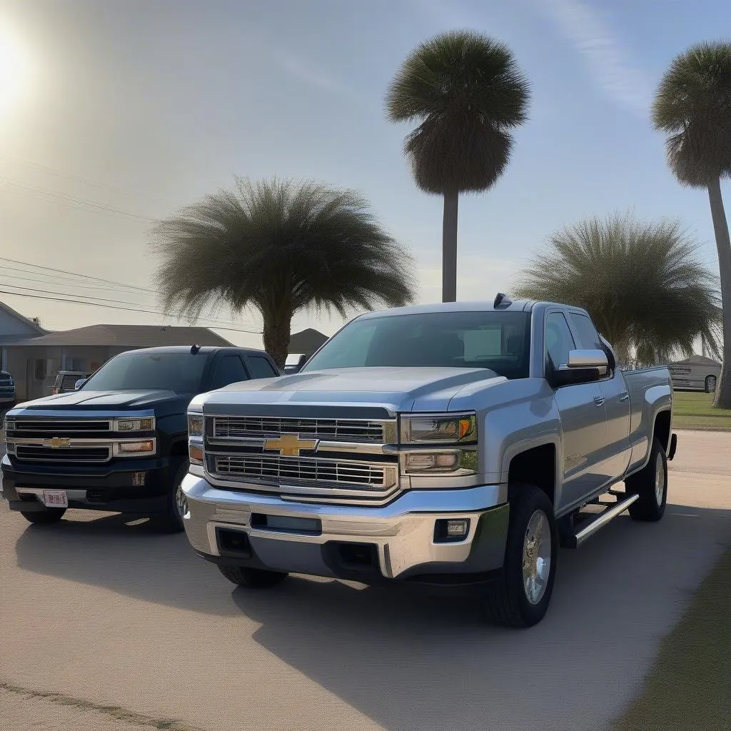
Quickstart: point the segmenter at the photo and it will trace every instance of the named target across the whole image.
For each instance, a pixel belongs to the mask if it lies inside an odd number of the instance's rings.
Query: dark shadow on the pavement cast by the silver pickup
[[[474,602],[289,580],[236,589],[254,640],[390,731],[601,727],[635,696],[657,644],[731,542],[731,513],[619,518],[562,551],[545,621],[485,624]],[[577,709],[583,709],[578,716]]]

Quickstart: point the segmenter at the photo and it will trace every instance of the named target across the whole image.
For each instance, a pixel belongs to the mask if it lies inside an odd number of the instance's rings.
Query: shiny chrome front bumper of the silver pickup
[[[192,474],[183,481],[183,491],[189,507],[184,520],[188,539],[197,553],[218,563],[358,580],[357,571],[354,575],[338,563],[337,549],[360,545],[373,551],[370,568],[376,579],[467,579],[503,564],[509,515],[504,485],[411,490],[385,507],[298,503],[213,487]],[[257,519],[253,526],[252,516]],[[262,516],[316,519],[321,531],[262,526]],[[466,538],[435,540],[436,520],[454,518],[469,519]],[[222,550],[221,531],[245,533],[251,558]]]

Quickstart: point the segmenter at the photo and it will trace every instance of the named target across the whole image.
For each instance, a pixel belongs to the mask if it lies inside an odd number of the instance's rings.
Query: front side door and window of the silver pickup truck
[[[545,357],[548,368],[558,368],[577,349],[564,313],[548,311],[545,319]],[[564,483],[558,510],[580,504],[606,482],[602,452],[607,444],[607,409],[598,382],[557,387],[553,397],[561,416]]]

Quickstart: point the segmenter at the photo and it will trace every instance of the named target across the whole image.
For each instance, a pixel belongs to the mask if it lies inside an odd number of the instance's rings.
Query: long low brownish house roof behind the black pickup
[[[172,325],[89,325],[75,330],[46,333],[37,338],[8,343],[10,346],[123,346],[146,348],[156,345],[218,345],[231,343],[208,327]]]

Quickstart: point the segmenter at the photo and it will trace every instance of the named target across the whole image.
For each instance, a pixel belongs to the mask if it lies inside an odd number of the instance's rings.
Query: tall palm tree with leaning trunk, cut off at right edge
[[[731,176],[731,43],[701,43],[677,56],[652,108],[667,135],[667,163],[683,186],[708,189],[724,313],[723,366],[714,406],[731,409],[731,240],[721,178]]]

